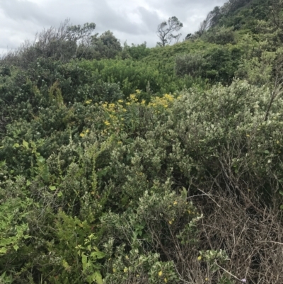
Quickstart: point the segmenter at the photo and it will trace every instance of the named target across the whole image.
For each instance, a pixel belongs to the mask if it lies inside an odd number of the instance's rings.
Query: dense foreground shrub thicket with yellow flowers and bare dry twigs
[[[54,125],[66,124],[55,144],[52,132],[44,137],[50,126],[41,137],[29,130],[45,110],[23,132],[23,122],[9,125],[2,279],[233,283],[231,273],[272,283],[271,271],[280,279],[282,99],[268,108],[269,91],[246,81],[148,103],[140,93],[57,103]]]

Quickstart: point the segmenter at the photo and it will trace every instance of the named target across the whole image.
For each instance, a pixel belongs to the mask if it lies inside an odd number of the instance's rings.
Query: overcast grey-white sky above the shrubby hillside
[[[227,0],[0,0],[0,52],[69,18],[74,25],[96,23],[96,33],[111,30],[126,40],[153,47],[157,25],[171,16],[183,23],[181,38],[194,33],[214,6]]]

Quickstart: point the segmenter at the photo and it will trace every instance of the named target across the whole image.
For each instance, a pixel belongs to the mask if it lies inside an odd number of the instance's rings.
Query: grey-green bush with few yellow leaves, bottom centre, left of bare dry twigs
[[[164,187],[168,188],[169,184]],[[190,229],[183,237],[190,242],[189,240],[195,237],[195,227],[200,216],[194,212],[192,204],[187,204],[186,194],[154,191],[151,191],[152,194],[146,191],[139,199],[137,212],[127,210],[123,215],[110,212],[101,218],[108,236],[112,236],[110,241],[105,243],[105,252],[110,257],[106,264],[110,272],[105,278],[108,283],[178,283],[171,259],[174,259],[174,254],[183,254],[184,251],[174,252],[173,247],[178,246],[178,239],[173,240],[172,248],[170,242],[186,224],[190,225]],[[118,240],[122,245],[113,255],[113,244]],[[152,254],[151,247],[161,253]],[[165,247],[166,251],[162,250]],[[161,255],[167,261],[160,261]]]

